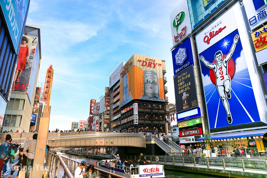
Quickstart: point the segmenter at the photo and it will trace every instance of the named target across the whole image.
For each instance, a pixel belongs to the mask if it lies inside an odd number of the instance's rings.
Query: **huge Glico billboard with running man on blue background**
[[[211,132],[226,131],[223,127],[244,128],[241,124],[259,121],[266,123],[247,31],[239,20],[241,13],[236,4],[196,35]]]

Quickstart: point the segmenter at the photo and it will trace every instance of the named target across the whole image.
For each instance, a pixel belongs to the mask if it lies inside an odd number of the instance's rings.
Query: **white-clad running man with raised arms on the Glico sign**
[[[233,45],[231,46],[231,49],[229,53],[225,56],[225,58],[222,59],[222,51],[217,51],[214,55],[216,63],[209,63],[205,60],[203,56],[200,56],[200,60],[204,63],[206,67],[209,69],[212,69],[214,71],[214,74],[216,76],[216,87],[218,90],[218,93],[220,95],[220,98],[222,99],[222,104],[225,108],[225,111],[227,113],[227,121],[229,124],[232,123],[233,119],[230,112],[229,103],[227,101],[227,98],[231,98],[231,79],[228,75],[228,61],[231,59],[233,52],[236,48],[236,44],[238,42],[239,35],[236,34],[236,36],[233,39]]]

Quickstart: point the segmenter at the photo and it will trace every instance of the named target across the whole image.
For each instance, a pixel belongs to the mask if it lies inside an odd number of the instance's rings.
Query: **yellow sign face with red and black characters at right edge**
[[[267,25],[251,34],[256,52],[267,48]]]

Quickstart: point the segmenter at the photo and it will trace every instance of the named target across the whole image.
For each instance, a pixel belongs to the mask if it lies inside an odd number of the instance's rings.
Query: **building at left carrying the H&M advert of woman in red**
[[[41,58],[40,28],[26,25],[2,131],[28,132],[31,121],[36,120],[32,113],[39,111],[34,99]]]

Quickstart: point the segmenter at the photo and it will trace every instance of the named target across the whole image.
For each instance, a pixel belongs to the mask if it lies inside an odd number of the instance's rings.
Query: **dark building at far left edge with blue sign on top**
[[[15,8],[7,9],[6,7],[10,7],[10,5]],[[29,5],[29,0],[20,4],[16,4],[15,1],[0,2],[0,43],[2,44],[0,47],[0,127],[3,125],[7,102],[11,96],[16,64],[18,63],[18,52]],[[11,13],[12,18],[10,19],[9,14]]]

